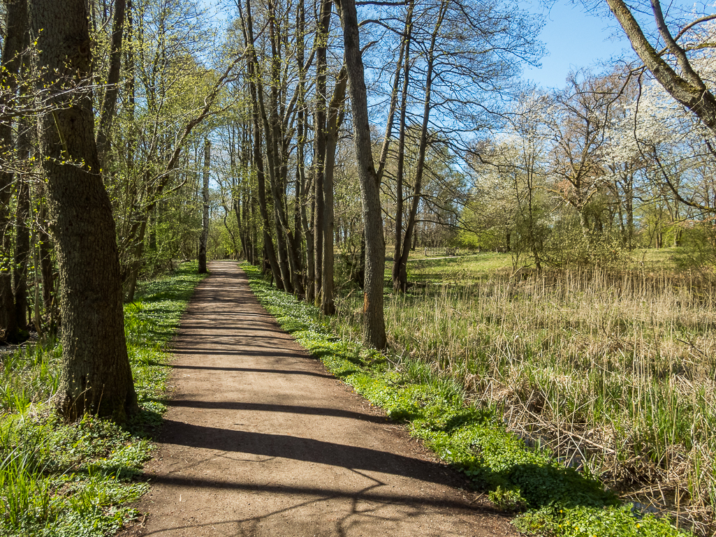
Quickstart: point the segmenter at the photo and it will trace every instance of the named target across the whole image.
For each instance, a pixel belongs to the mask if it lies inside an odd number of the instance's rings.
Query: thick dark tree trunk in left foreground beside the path
[[[41,118],[40,141],[61,289],[59,412],[70,421],[92,412],[122,422],[139,407],[115,222],[95,144],[87,3],[34,0],[29,15],[42,51],[39,84],[52,107]]]

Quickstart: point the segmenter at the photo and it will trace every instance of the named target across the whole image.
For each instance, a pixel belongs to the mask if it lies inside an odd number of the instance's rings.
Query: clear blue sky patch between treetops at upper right
[[[586,14],[581,3],[557,0],[547,11],[539,0],[521,2],[521,6],[533,13],[546,14],[547,20],[540,39],[546,44],[548,55],[542,59],[542,67],[527,67],[523,77],[542,87],[565,85],[570,69],[595,67],[599,62],[619,54],[633,54],[621,29],[615,31],[616,21],[606,16]],[[610,26],[611,25],[611,26]],[[616,36],[616,38],[614,38]]]

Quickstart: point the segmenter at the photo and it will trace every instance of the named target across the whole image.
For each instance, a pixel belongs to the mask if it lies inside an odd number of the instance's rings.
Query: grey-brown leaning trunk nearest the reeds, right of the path
[[[387,347],[383,311],[385,241],[380,207],[380,185],[375,172],[368,121],[368,99],[354,0],[340,0],[349,95],[353,112],[353,136],[363,200],[366,258],[363,288],[363,339],[376,349]]]

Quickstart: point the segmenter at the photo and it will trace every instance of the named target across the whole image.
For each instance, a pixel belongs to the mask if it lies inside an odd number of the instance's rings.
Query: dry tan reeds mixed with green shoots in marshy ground
[[[350,297],[339,319],[358,321]],[[458,378],[526,442],[647,511],[714,532],[716,288],[707,281],[460,271],[388,296],[386,324],[393,349]]]

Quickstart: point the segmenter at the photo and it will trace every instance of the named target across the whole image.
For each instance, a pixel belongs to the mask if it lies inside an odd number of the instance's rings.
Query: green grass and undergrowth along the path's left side
[[[200,281],[196,263],[140,285],[125,305],[125,333],[141,412],[120,427],[54,415],[62,349],[55,340],[6,354],[0,390],[0,537],[103,537],[137,515],[127,506],[165,406],[167,343]]]

